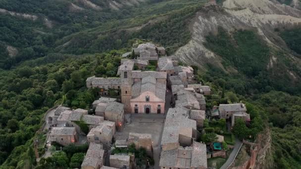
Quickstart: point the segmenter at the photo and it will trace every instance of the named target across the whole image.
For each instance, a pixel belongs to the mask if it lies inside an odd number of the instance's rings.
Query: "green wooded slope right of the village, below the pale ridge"
[[[269,49],[251,31],[236,31],[232,37],[219,30],[217,36],[210,35],[206,38],[205,45],[222,56],[224,65],[235,67],[239,73],[225,75],[211,66],[209,75],[204,75],[203,79],[217,86],[222,84],[221,82],[227,82],[226,89],[234,90],[245,97],[240,99],[248,99],[260,107],[260,112],[264,117],[268,117],[266,121],[272,128],[275,167],[300,168],[301,151],[298,142],[301,141],[301,97],[271,91],[289,91],[300,95],[300,84],[294,84],[284,71],[292,70],[291,67],[295,67],[297,73],[300,73],[300,70],[284,52]],[[279,60],[274,68],[267,70],[270,55],[277,56]]]

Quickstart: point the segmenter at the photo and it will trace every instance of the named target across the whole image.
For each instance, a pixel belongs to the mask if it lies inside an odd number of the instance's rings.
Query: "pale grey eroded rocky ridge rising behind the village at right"
[[[204,68],[206,63],[211,63],[224,69],[222,58],[203,45],[205,36],[216,34],[218,27],[229,33],[239,29],[255,30],[271,47],[287,50],[285,42],[274,29],[297,24],[301,24],[301,10],[297,8],[270,0],[226,0],[222,6],[205,6],[197,13],[190,25],[191,41],[180,47],[175,55],[187,64]],[[301,63],[297,57],[290,57]]]

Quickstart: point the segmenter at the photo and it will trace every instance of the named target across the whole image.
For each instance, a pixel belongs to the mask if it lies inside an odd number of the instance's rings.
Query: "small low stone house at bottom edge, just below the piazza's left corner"
[[[130,156],[110,155],[110,166],[117,169],[132,169]]]

